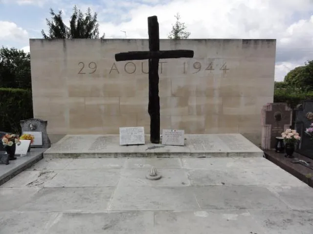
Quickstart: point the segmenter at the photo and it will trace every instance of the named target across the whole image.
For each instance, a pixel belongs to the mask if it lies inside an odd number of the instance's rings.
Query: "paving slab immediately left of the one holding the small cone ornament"
[[[45,187],[105,187],[116,186],[119,169],[63,170],[45,183]]]

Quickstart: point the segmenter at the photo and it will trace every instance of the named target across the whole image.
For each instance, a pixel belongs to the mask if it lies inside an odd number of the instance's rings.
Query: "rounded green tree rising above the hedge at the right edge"
[[[304,92],[313,91],[313,60],[291,70],[285,76],[284,82],[290,88],[297,88]]]

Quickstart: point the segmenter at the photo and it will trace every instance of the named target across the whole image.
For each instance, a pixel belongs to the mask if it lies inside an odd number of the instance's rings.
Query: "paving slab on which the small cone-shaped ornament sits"
[[[121,172],[119,186],[153,186],[153,187],[185,187],[190,185],[188,174],[184,170],[161,169],[157,173],[159,180],[146,179],[150,169],[124,169]]]

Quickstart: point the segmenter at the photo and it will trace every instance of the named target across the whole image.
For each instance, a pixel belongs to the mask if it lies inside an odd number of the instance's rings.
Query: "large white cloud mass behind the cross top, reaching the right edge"
[[[141,4],[124,13],[120,23],[102,22],[106,38],[148,38],[147,17],[156,15],[160,38],[167,38],[179,12],[190,39],[277,39],[275,79],[313,59],[312,0],[173,0]],[[310,15],[311,14],[311,15]],[[123,20],[121,19],[121,20]],[[297,19],[297,20],[291,20]]]

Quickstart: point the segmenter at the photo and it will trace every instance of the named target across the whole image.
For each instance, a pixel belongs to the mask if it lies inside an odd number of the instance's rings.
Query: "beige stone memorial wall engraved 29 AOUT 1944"
[[[241,133],[261,143],[276,40],[160,39],[160,50],[174,49],[194,50],[194,58],[159,60],[161,129]],[[114,59],[147,50],[147,39],[30,39],[34,117],[48,121],[54,141],[119,134],[119,127],[143,126],[149,134],[148,61]]]

